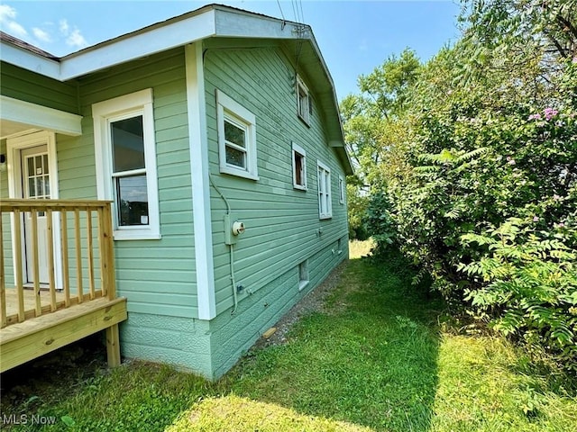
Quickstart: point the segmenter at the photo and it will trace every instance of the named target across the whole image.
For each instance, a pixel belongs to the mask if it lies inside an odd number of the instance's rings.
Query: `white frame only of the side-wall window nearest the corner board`
[[[226,163],[226,146],[224,139],[224,121],[230,121],[235,126],[244,129],[246,166],[234,166]],[[256,154],[256,116],[235,102],[220,90],[216,90],[216,122],[218,129],[218,156],[220,172],[251,180],[258,180],[257,154]]]

